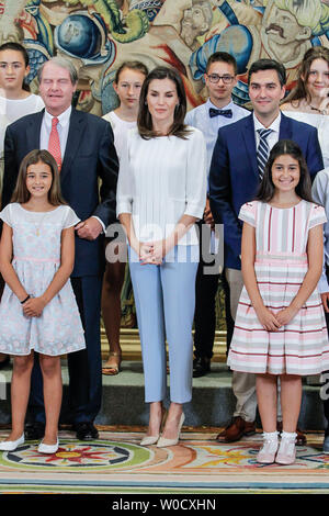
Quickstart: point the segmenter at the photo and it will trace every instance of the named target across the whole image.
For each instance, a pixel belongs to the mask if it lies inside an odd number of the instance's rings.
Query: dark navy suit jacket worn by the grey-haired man
[[[9,125],[4,138],[2,207],[11,200],[24,156],[39,148],[44,110]],[[60,171],[61,193],[81,221],[98,216],[105,226],[115,221],[118,161],[109,122],[72,109]],[[100,187],[101,183],[101,187]],[[100,274],[104,266],[103,238],[76,236],[73,277]]]

